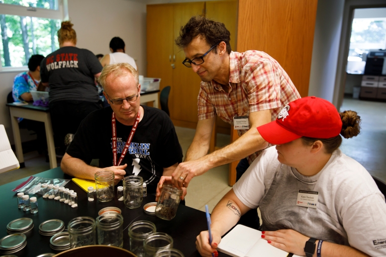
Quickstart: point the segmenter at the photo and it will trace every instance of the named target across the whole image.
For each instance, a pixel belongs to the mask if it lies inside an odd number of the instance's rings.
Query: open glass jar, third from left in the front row
[[[129,226],[130,251],[138,257],[145,256],[143,241],[148,235],[155,232],[156,228],[153,222],[140,220],[132,223]]]

